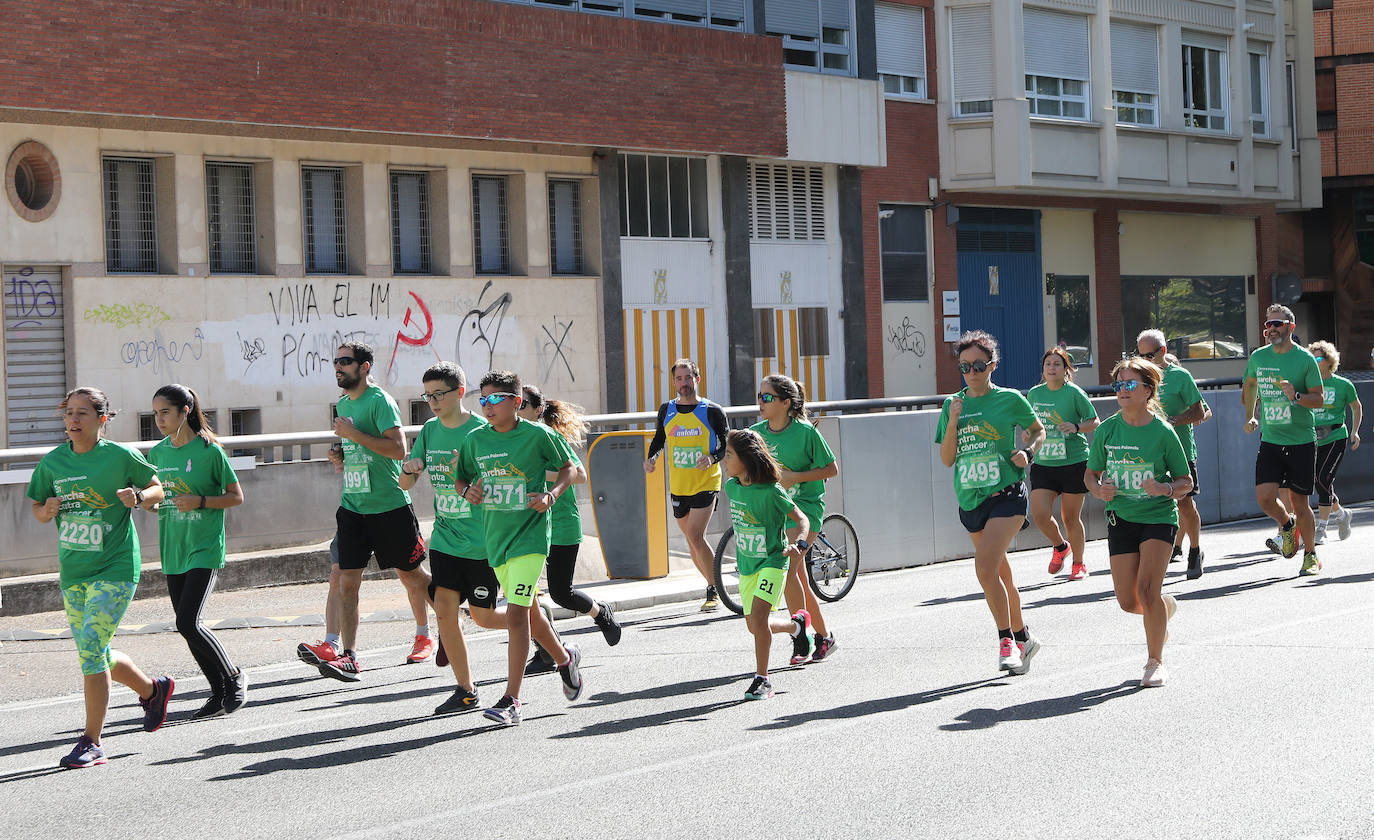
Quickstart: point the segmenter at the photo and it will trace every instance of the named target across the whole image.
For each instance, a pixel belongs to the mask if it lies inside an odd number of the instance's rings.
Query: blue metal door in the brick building
[[[959,326],[992,333],[1002,351],[992,381],[1021,390],[1040,381],[1044,352],[1039,216],[959,208]]]

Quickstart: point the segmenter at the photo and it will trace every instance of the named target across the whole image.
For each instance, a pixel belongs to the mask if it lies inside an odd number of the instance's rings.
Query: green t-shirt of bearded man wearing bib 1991
[[[348,395],[339,399],[339,417],[353,421],[357,430],[382,437],[387,429],[401,425],[401,410],[396,400],[376,385],[368,385],[356,400]],[[372,450],[352,440],[344,441],[344,494],[339,505],[353,513],[386,513],[411,503],[411,494],[401,489],[401,462],[382,458]]]

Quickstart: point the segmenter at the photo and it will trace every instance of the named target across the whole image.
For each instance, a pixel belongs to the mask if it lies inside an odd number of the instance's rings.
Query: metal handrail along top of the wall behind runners
[[[1217,379],[1198,379],[1198,388],[1202,390],[1215,390],[1220,388],[1235,388],[1241,385],[1238,377],[1231,378],[1217,378]],[[1106,385],[1094,385],[1091,388],[1084,388],[1090,396],[1110,396],[1112,388]],[[870,400],[829,400],[824,403],[807,403],[807,411],[809,414],[864,414],[871,411],[914,411],[921,408],[934,408],[944,403],[945,395],[933,396],[907,396],[907,397],[882,397]],[[741,418],[754,418],[758,417],[757,406],[728,406],[724,408],[725,417],[728,419]],[[585,417],[587,423],[591,426],[592,433],[598,432],[616,432],[627,429],[631,426],[649,426],[657,419],[657,412],[654,411],[639,411],[635,414],[591,414]],[[404,426],[405,436],[414,440],[415,434],[419,433],[420,426]],[[256,450],[260,452],[260,458],[264,463],[279,463],[279,462],[294,462],[294,461],[311,461],[311,447],[320,445],[326,450],[331,447],[338,437],[333,432],[290,432],[284,434],[232,434],[220,437],[220,443],[224,444],[227,450]],[[144,440],[137,443],[131,443],[133,448],[147,452],[157,444],[155,440]],[[278,452],[280,450],[280,452]],[[22,450],[0,450],[0,467],[8,467],[14,463],[36,463],[40,458],[52,451],[52,447],[27,447]]]

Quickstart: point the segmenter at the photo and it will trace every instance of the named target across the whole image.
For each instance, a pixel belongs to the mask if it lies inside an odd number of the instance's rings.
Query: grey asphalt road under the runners
[[[778,696],[763,703],[742,698],[750,638],[728,615],[627,612],[613,649],[589,621],[563,621],[585,652],[587,696],[567,704],[556,678],[534,678],[515,729],[430,716],[448,672],[401,665],[408,643],[368,649],[361,683],[317,676],[293,656],[317,628],[224,631],[250,704],[188,723],[205,683],[180,639],[131,635],[121,649],[177,675],[173,714],[146,734],[117,689],[110,763],[81,771],[55,770],[81,722],[70,641],[7,642],[0,835],[1374,837],[1374,527],[1325,546],[1312,579],[1264,551],[1268,533],[1208,529],[1208,573],[1187,582],[1171,566],[1171,681],[1150,690],[1135,685],[1143,631],[1112,599],[1103,543],[1084,582],[1051,579],[1039,551],[1013,560],[1046,643],[1026,676],[998,674],[995,628],[959,561],[860,577],[827,610],[835,657],[790,668],[779,641]],[[389,586],[364,610],[404,612]],[[293,615],[317,612],[320,593],[213,604]],[[409,632],[363,630],[376,645]],[[504,641],[470,642],[495,701]]]

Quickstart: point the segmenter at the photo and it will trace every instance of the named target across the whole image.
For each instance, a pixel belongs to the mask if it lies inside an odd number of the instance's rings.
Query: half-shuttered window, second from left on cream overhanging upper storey
[[[1025,10],[1026,100],[1040,117],[1088,117],[1088,19]]]

